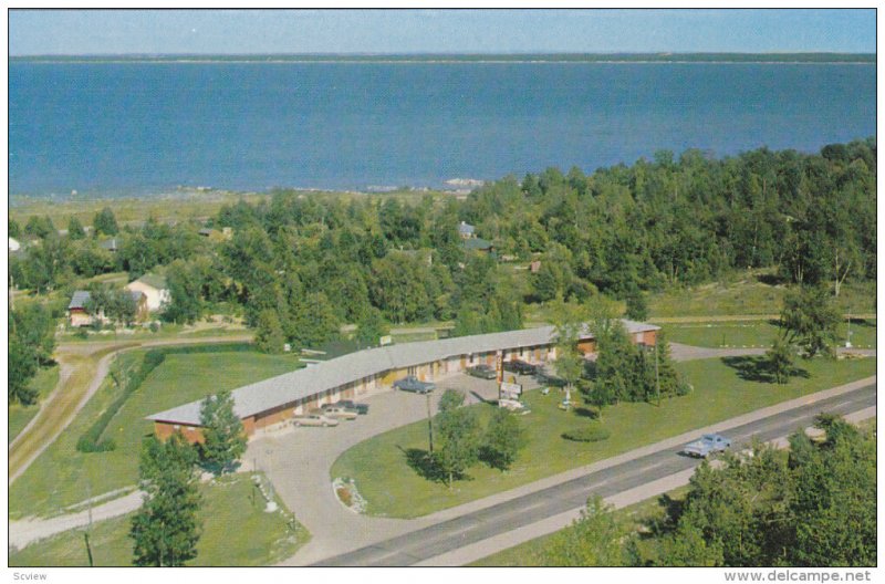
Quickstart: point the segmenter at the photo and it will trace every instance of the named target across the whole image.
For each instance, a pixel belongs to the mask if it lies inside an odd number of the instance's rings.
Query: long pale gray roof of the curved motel
[[[660,328],[652,324],[627,320],[624,320],[623,323],[628,333],[657,331]],[[544,345],[551,343],[553,334],[553,326],[541,326],[539,328],[366,348],[235,389],[233,411],[240,418],[248,418],[261,411],[311,397],[327,389],[341,387],[389,369],[412,367],[459,355],[487,353],[501,348]],[[586,326],[582,336],[585,338],[593,337]],[[147,419],[199,426],[200,401],[191,401],[167,409],[148,416]]]

